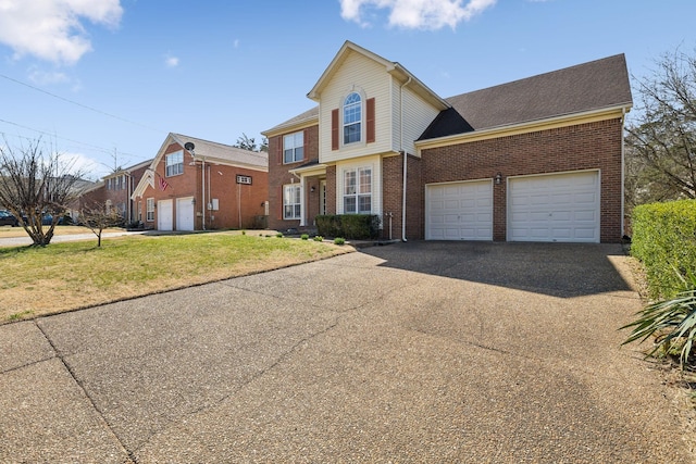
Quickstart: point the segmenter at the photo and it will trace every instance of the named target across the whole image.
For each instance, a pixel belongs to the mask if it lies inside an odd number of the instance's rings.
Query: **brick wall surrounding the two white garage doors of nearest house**
[[[432,183],[600,170],[600,241],[621,241],[619,118],[422,151],[422,181]],[[423,187],[424,189],[424,187]],[[494,240],[506,240],[506,183],[494,185]],[[418,200],[417,200],[418,201]],[[421,208],[424,212],[424,202]]]

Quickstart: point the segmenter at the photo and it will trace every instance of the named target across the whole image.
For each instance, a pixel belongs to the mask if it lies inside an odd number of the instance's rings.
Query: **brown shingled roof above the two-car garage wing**
[[[631,108],[625,57],[617,54],[446,99],[419,140],[570,114]]]

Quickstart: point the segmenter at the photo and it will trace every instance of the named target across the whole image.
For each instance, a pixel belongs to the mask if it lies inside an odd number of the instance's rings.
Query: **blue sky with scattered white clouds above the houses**
[[[95,179],[170,131],[260,141],[314,105],[345,40],[446,98],[617,53],[641,77],[696,55],[694,17],[693,0],[2,0],[0,143],[40,138]]]

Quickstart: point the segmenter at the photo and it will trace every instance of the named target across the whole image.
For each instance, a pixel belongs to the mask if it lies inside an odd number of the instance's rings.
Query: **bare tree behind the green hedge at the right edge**
[[[638,92],[626,127],[626,202],[696,198],[696,58],[663,54]]]

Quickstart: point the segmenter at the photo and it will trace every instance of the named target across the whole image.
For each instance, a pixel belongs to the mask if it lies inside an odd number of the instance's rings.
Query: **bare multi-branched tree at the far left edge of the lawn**
[[[39,140],[18,150],[7,141],[0,147],[0,206],[14,214],[34,246],[50,243],[55,225],[79,196],[83,173],[73,164],[60,153],[46,154]]]

